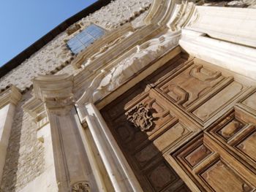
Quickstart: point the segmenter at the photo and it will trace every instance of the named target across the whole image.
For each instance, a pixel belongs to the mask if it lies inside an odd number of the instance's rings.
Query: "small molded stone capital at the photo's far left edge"
[[[18,104],[18,101],[20,101],[21,97],[22,95],[18,88],[12,85],[6,91],[0,94],[0,109],[10,103],[14,105]]]

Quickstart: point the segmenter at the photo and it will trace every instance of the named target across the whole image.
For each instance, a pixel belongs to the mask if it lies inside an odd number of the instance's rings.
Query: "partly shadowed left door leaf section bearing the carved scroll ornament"
[[[156,91],[140,83],[124,99],[102,110],[144,191],[189,191],[162,153],[200,130],[170,109]]]

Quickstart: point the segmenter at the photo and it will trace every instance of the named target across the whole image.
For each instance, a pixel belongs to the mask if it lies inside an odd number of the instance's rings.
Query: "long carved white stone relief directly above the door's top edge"
[[[113,61],[113,68],[102,69],[102,72],[91,80],[91,85],[81,98],[95,102],[118,88],[136,72],[151,64],[159,56],[178,45],[181,33],[167,32],[160,37],[150,39],[142,45],[133,47],[121,58]],[[79,100],[78,103],[83,102]]]

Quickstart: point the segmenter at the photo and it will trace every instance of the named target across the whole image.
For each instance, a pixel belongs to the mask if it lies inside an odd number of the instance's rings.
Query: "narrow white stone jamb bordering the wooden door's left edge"
[[[142,191],[135,174],[97,107],[91,103],[85,104],[84,112],[85,116],[82,121],[88,124],[114,190],[118,192]]]

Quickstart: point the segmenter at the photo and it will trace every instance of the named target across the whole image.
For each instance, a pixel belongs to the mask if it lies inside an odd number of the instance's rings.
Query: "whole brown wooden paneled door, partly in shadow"
[[[144,191],[255,191],[253,85],[178,55],[101,112]]]

